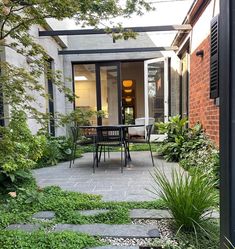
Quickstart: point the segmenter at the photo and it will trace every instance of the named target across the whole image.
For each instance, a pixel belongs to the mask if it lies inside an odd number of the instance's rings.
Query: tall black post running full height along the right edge
[[[220,248],[235,245],[235,1],[220,0]],[[228,245],[228,243],[227,243]]]

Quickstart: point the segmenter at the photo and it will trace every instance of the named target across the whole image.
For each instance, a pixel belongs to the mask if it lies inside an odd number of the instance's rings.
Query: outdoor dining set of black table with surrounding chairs
[[[146,125],[147,123],[147,125]],[[116,125],[78,125],[75,123],[71,127],[73,149],[69,167],[75,163],[76,150],[79,146],[92,146],[93,162],[91,162],[93,173],[99,167],[102,153],[104,161],[106,154],[108,160],[111,158],[113,148],[120,150],[120,168],[123,173],[124,167],[132,161],[130,144],[147,144],[149,153],[154,166],[153,153],[150,143],[151,133],[154,130],[154,119],[137,118],[135,124],[116,124]],[[134,160],[134,159],[133,159]]]

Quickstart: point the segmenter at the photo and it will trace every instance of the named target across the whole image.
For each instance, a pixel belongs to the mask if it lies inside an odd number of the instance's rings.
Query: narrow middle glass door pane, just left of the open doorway
[[[104,111],[103,125],[115,125],[120,122],[120,84],[119,65],[98,65],[100,85],[100,106]]]

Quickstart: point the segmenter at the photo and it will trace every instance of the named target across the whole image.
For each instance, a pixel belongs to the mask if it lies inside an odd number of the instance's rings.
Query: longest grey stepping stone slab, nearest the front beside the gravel
[[[159,230],[155,225],[57,224],[54,231],[73,231],[100,237],[160,238]]]

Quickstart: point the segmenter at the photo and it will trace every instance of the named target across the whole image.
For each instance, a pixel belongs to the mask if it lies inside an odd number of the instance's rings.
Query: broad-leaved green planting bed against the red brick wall
[[[200,124],[187,128],[187,122],[186,118],[177,115],[168,123],[157,123],[159,132],[167,134],[158,150],[166,160],[179,162],[191,174],[205,172],[218,184],[219,152]]]

